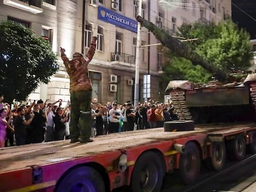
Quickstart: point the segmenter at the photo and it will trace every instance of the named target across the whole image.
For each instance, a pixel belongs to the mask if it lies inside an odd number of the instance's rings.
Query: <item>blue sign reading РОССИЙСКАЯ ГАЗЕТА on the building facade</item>
[[[138,24],[136,20],[132,20],[129,17],[124,17],[123,15],[117,14],[116,12],[106,9],[105,7],[98,6],[98,19],[137,33]]]

